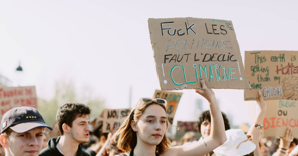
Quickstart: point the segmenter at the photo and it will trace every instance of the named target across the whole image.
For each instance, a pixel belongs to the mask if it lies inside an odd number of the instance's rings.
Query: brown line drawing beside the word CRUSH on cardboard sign
[[[289,77],[283,79],[283,99],[298,99],[298,78]]]

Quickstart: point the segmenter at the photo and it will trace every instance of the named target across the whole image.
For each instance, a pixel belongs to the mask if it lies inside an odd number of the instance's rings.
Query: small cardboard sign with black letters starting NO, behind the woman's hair
[[[105,109],[103,111],[103,133],[109,133],[111,130],[120,127],[120,118],[126,116],[130,110],[130,108]]]

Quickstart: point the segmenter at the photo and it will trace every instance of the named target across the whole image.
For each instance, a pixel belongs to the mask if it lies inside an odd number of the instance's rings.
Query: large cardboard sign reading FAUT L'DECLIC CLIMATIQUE
[[[161,90],[249,89],[232,21],[149,18]]]

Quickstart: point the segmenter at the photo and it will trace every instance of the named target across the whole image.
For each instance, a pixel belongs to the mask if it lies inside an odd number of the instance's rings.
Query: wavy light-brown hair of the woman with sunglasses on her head
[[[117,143],[117,147],[124,151],[128,152],[131,151],[136,147],[136,132],[131,128],[131,121],[137,122],[139,117],[142,115],[142,112],[145,111],[148,105],[160,105],[162,108],[164,108],[164,111],[167,114],[167,107],[163,104],[157,103],[156,100],[147,102],[147,103],[139,103],[135,108],[132,108],[131,111],[128,113],[128,116],[126,116],[119,127],[119,130],[115,134],[114,141]],[[169,120],[167,118],[167,127],[170,125]],[[164,133],[164,137],[162,138],[162,141],[156,145],[155,152],[157,154],[161,154],[164,152],[164,150],[170,148],[171,142],[167,139],[166,133]]]

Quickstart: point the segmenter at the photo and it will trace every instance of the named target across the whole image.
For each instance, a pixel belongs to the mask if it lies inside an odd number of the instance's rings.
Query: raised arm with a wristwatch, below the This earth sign
[[[262,127],[258,125],[263,125],[265,112],[266,112],[266,103],[262,97],[261,91],[259,90],[259,100],[257,101],[259,106],[259,113],[254,120],[254,123],[250,126],[247,135],[252,135],[252,142],[256,144],[256,149],[254,150],[254,156],[261,156],[261,149],[260,149],[260,135]]]

